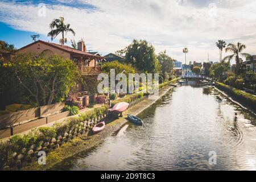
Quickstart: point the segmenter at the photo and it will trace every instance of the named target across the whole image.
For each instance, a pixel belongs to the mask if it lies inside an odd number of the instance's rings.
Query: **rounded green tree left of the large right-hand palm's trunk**
[[[230,63],[221,61],[221,63],[212,64],[210,66],[210,76],[216,78],[217,80],[224,80],[224,73],[230,70]]]

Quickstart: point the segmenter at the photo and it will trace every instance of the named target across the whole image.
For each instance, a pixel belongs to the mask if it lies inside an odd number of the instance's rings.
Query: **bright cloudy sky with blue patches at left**
[[[64,16],[87,49],[102,55],[145,39],[156,53],[166,50],[183,61],[219,60],[218,39],[241,42],[246,53],[256,54],[255,0],[0,0],[0,40],[20,48],[32,42],[30,35],[47,37],[49,23]],[[58,43],[60,37],[53,42]],[[229,53],[223,53],[223,56]]]

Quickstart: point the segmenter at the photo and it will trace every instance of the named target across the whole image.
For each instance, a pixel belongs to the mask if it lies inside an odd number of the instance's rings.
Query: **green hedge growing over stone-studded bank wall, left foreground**
[[[100,119],[106,117],[109,106],[91,109],[79,117],[65,119],[52,127],[40,127],[28,134],[14,135],[0,142],[0,170],[18,169],[37,160],[40,150],[50,152],[63,142],[89,131]]]

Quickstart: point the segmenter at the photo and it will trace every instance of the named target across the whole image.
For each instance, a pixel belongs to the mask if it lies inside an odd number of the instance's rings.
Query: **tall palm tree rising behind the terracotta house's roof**
[[[61,33],[62,39],[60,39],[60,43],[61,43],[61,46],[63,46],[64,43],[67,43],[67,38],[64,38],[64,32],[66,35],[67,35],[67,32],[72,32],[74,36],[76,35],[75,31],[73,31],[72,28],[69,28],[69,26],[70,24],[64,24],[63,17],[60,17],[60,19],[53,19],[52,23],[49,24],[51,31],[48,33],[48,36],[51,36],[51,39],[53,40],[56,38],[57,35]]]

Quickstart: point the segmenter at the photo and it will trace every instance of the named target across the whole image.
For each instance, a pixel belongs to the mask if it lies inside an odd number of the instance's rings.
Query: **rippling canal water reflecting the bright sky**
[[[179,86],[56,170],[255,170],[256,117],[213,88]]]

